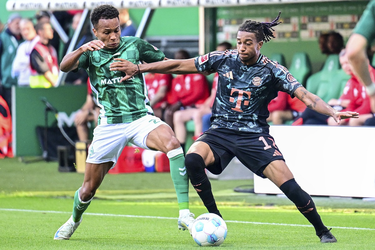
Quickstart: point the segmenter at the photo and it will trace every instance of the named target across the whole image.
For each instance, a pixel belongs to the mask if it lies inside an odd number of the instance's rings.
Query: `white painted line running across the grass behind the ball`
[[[50,214],[71,214],[71,212],[62,212],[62,211],[26,210],[26,209],[12,209],[12,208],[0,208],[0,211],[31,212],[31,213],[50,213]],[[176,220],[176,219],[178,219],[178,218],[174,218],[174,217],[142,216],[142,215],[127,215],[127,214],[85,213],[85,215],[111,216],[111,217],[127,217],[127,218],[147,218],[147,219],[167,219],[167,220]],[[312,225],[285,224],[285,223],[268,223],[268,222],[243,222],[243,221],[239,221],[239,220],[225,220],[225,222],[242,223],[242,224],[256,224],[256,225],[312,227]],[[343,226],[327,226],[327,228],[354,229],[354,230],[375,230],[375,228],[350,228],[350,227],[343,227]]]

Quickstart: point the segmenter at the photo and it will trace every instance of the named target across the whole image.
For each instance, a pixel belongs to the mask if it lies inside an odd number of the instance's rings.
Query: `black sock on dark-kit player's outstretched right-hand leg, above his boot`
[[[298,210],[308,221],[314,226],[317,235],[320,235],[326,226],[324,226],[317,208],[315,207],[314,201],[311,196],[302,190],[297,184],[296,180],[291,179],[285,181],[281,186],[280,190],[296,205]]]

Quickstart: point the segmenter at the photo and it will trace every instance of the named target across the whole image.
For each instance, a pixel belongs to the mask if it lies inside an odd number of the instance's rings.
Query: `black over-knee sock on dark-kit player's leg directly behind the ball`
[[[202,156],[196,153],[187,154],[185,156],[185,166],[190,182],[207,208],[208,213],[222,217],[213,198],[211,183],[204,171],[206,165]]]

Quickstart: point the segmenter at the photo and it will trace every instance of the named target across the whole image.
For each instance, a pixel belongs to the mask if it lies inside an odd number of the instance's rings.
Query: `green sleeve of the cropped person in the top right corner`
[[[364,36],[368,43],[371,43],[375,39],[375,0],[371,0],[367,4],[353,33]]]

